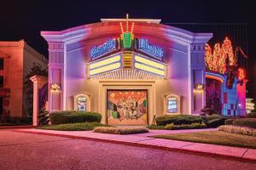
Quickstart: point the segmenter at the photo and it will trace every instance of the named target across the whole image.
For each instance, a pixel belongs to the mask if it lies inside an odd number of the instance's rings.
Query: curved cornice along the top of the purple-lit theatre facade
[[[212,38],[212,33],[195,33],[174,26],[167,26],[163,24],[148,23],[142,21],[135,21],[136,26],[154,26],[159,28],[161,31],[166,33],[166,37],[172,37],[176,39],[181,39],[183,42],[208,42]],[[75,26],[62,31],[41,31],[41,36],[47,42],[68,42],[76,38],[90,36],[90,31],[92,28],[98,26],[117,26],[119,21],[108,21],[108,22],[97,22],[92,24],[86,24],[83,26]]]

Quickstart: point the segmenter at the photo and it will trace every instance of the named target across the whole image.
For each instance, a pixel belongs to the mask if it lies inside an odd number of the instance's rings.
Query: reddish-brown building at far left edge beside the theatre
[[[48,59],[24,40],[0,42],[0,121],[27,116],[24,81],[34,63],[46,68]]]

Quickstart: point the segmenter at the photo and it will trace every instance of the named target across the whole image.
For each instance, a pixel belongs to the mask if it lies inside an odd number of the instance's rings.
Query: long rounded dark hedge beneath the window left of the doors
[[[101,122],[102,115],[96,112],[84,111],[55,111],[49,114],[52,124],[65,124],[74,122]]]

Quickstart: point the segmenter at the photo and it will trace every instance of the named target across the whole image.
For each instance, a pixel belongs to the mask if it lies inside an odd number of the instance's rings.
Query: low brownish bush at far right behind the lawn
[[[226,133],[236,133],[236,134],[243,134],[247,136],[253,136],[253,128],[250,127],[236,127],[232,125],[223,125],[218,127],[219,131],[223,131]]]

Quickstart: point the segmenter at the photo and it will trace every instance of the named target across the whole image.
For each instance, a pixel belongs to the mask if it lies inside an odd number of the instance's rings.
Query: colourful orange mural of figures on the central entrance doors
[[[147,125],[147,90],[108,90],[109,125]]]

